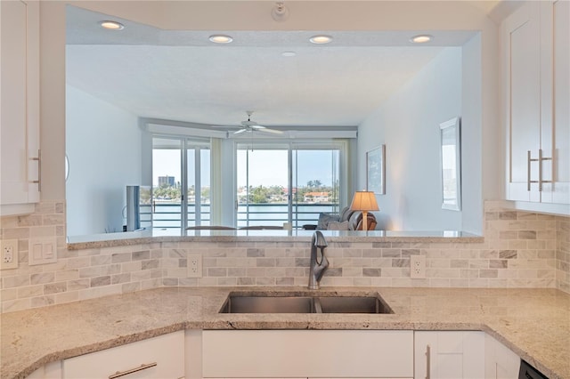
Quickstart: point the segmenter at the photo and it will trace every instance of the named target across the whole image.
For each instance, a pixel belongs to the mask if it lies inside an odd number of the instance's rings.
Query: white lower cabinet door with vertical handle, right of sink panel
[[[414,340],[415,378],[485,377],[485,333],[414,332]]]

